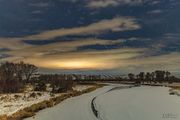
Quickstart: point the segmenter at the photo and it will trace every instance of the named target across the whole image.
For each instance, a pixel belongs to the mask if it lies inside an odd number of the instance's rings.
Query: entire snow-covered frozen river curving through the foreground
[[[67,99],[26,120],[180,120],[180,97],[169,95],[166,87],[110,85]]]

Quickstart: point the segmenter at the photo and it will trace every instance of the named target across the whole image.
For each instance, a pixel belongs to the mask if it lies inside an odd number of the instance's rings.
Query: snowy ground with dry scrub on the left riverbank
[[[93,87],[91,85],[77,85],[73,90],[83,91]],[[63,93],[62,93],[63,94]],[[49,92],[27,92],[18,94],[0,94],[0,115],[11,115],[20,109],[29,107],[33,104],[49,100],[52,97],[61,94],[52,95]]]

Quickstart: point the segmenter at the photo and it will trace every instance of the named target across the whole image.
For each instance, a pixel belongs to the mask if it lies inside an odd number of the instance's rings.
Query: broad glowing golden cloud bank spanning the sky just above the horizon
[[[177,35],[167,34],[166,36]],[[94,44],[112,45],[121,42],[123,42],[123,40],[79,39],[41,46],[27,45],[24,47],[20,47],[20,44],[24,43],[19,42],[19,47],[14,47],[14,50],[4,52],[2,60],[15,62],[23,60],[35,64],[43,69],[54,70],[117,70],[118,72],[126,69],[132,72],[137,72],[141,70],[152,71],[155,69],[177,71],[179,69],[179,52],[171,52],[158,56],[148,56],[147,52],[152,49],[119,48],[101,51],[76,51],[80,46]],[[10,47],[12,46],[10,45]],[[9,56],[4,58],[4,55]]]

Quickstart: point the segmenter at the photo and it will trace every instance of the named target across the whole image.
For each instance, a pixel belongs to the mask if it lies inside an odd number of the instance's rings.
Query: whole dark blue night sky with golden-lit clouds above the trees
[[[0,0],[0,62],[180,76],[179,0]]]

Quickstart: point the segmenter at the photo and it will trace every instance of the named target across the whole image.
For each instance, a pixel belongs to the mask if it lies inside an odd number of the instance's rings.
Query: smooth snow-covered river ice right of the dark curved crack
[[[180,120],[180,97],[167,87],[115,90],[95,100],[103,120]]]

